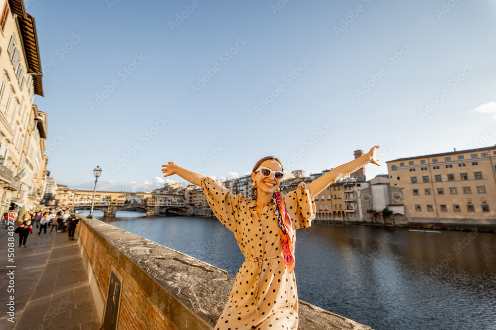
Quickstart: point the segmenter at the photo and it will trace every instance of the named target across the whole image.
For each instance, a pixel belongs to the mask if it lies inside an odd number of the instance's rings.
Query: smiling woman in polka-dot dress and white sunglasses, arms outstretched
[[[234,233],[246,258],[216,330],[298,329],[298,293],[293,273],[295,230],[310,227],[315,217],[313,196],[369,163],[379,165],[375,153],[378,147],[308,185],[301,182],[286,195],[279,189],[284,178],[281,162],[271,156],[262,158],[251,172],[251,200],[174,162],[162,165],[164,177],[177,174],[203,189],[210,207]]]

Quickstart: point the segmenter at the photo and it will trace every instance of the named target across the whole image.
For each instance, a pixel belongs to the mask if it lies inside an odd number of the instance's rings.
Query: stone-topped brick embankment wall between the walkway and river
[[[101,319],[114,270],[122,277],[117,329],[214,329],[233,287],[233,276],[96,219],[82,219],[77,231]],[[299,329],[371,328],[300,301]]]

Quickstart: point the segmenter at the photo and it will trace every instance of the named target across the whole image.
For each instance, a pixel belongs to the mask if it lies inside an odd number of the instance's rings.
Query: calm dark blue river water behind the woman
[[[244,261],[215,218],[94,215],[233,276]],[[375,330],[496,330],[495,234],[313,223],[294,271],[301,300]]]

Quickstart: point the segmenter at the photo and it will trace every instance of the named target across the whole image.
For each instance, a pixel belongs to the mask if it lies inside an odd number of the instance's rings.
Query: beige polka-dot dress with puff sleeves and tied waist
[[[255,201],[234,195],[208,177],[201,180],[208,204],[221,223],[234,233],[246,260],[236,274],[229,300],[216,330],[298,328],[298,293],[294,271],[289,273],[282,255],[273,203],[261,219]],[[307,184],[300,183],[283,200],[295,230],[310,227],[315,204]],[[298,263],[298,258],[295,257]]]

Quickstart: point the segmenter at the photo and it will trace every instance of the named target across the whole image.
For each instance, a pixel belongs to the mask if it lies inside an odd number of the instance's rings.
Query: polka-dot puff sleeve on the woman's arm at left
[[[203,189],[208,205],[219,221],[231,232],[236,231],[236,217],[239,213],[239,195],[234,195],[231,190],[219,185],[209,177],[201,179],[200,187]]]

